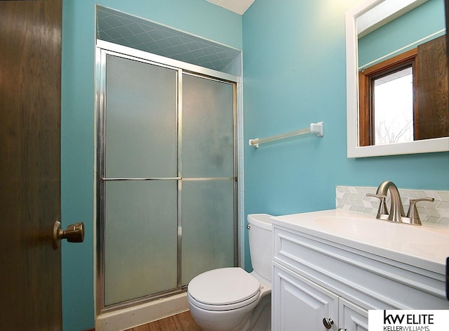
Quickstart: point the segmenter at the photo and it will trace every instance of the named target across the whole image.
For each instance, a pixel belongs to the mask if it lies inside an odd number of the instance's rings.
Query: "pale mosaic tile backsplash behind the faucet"
[[[367,197],[366,193],[376,193],[377,188],[337,186],[335,190],[335,207],[340,209],[377,214],[379,200]],[[407,214],[410,198],[434,197],[434,202],[417,202],[417,209],[422,223],[437,223],[449,226],[449,191],[447,190],[405,190],[399,188],[404,212]],[[387,207],[390,206],[390,197],[387,197]]]

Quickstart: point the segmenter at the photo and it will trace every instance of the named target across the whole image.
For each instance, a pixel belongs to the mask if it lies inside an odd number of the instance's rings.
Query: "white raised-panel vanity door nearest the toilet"
[[[337,295],[277,264],[273,273],[273,331],[326,330],[323,318],[337,330]]]

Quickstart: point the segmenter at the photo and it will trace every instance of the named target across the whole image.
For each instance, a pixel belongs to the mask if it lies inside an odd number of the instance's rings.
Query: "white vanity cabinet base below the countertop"
[[[272,330],[368,330],[370,309],[449,309],[444,277],[370,248],[273,223]]]

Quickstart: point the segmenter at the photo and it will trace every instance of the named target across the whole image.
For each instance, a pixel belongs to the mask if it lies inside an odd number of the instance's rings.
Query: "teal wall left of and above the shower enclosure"
[[[95,3],[242,48],[241,15],[204,0],[63,0],[62,226],[83,221],[82,244],[62,244],[65,331],[94,326]]]

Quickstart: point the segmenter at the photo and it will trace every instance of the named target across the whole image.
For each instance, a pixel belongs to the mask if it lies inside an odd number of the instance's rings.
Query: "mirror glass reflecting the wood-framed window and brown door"
[[[443,0],[359,31],[358,145],[449,136]]]

